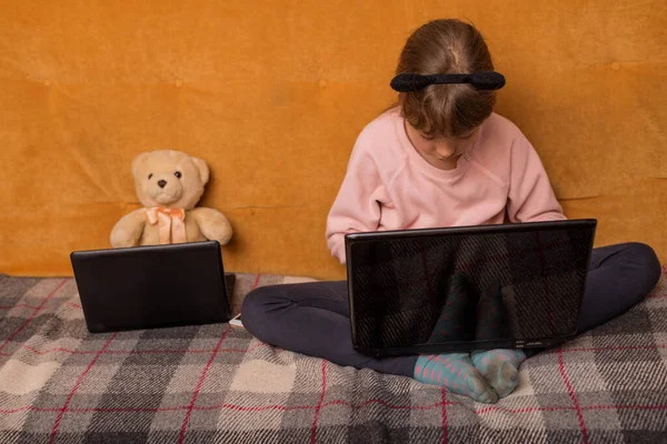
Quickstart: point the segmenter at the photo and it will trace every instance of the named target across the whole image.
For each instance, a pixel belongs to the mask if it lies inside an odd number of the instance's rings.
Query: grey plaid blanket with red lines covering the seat
[[[233,306],[258,285],[238,275]],[[666,443],[667,279],[478,404],[227,324],[91,335],[70,279],[0,275],[2,443]]]

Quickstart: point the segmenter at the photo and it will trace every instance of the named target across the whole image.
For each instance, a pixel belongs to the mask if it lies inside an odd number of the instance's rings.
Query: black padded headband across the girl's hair
[[[505,87],[505,77],[496,71],[470,74],[398,74],[391,80],[391,89],[398,92],[419,91],[429,84],[470,83],[477,90],[499,90]]]

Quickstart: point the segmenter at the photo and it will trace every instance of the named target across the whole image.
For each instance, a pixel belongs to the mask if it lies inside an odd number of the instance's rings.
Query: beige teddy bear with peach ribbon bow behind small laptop
[[[143,209],[125,215],[111,231],[113,248],[216,240],[225,245],[232,229],[212,209],[195,208],[209,180],[206,162],[180,151],[139,154],[132,162]]]

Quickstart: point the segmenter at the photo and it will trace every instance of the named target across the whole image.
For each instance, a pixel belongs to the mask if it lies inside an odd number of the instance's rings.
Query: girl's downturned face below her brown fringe
[[[458,158],[465,154],[479,135],[479,127],[458,138],[430,138],[412,128],[407,121],[406,133],[415,150],[431,165],[441,170],[454,170]]]

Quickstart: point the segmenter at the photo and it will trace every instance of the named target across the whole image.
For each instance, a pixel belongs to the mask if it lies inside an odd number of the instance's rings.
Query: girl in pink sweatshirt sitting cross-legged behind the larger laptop
[[[479,32],[457,20],[424,24],[408,39],[397,73],[494,71]],[[542,164],[520,130],[492,112],[494,90],[430,84],[399,94],[399,105],[359,135],[327,223],[327,243],[345,263],[345,234],[375,230],[566,219]],[[659,262],[644,244],[593,252],[578,321],[586,331],[618,316],[657,284]],[[256,337],[338,365],[415,377],[494,403],[511,393],[520,350],[375,359],[357,353],[346,282],[265,286],[243,302]],[[455,370],[452,370],[454,367]],[[445,374],[449,379],[432,377]]]

